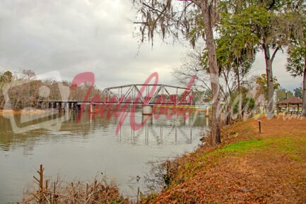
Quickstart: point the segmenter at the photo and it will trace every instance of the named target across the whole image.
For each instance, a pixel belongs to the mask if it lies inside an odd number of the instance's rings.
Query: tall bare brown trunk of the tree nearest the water
[[[212,102],[212,116],[211,116],[211,145],[218,145],[221,143],[220,137],[220,83],[219,83],[219,69],[217,66],[217,56],[215,40],[213,39],[213,28],[211,23],[212,5],[208,5],[208,0],[201,1],[201,13],[204,19],[204,31],[206,47],[208,49],[208,63],[211,79],[211,92],[213,95]]]

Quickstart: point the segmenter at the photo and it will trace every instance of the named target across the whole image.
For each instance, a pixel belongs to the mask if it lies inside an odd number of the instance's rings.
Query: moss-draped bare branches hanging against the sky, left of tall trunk
[[[173,40],[187,37],[194,26],[194,16],[199,13],[199,9],[196,6],[192,6],[195,5],[194,2],[196,1],[134,1],[139,14],[134,23],[139,28],[141,43],[148,40],[153,45],[155,34],[160,35],[163,40],[167,37],[172,37]]]

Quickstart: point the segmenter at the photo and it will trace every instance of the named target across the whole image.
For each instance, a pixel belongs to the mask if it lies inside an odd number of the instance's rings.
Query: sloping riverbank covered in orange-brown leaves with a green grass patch
[[[169,185],[142,203],[304,203],[306,121],[300,116],[242,121],[222,144],[170,163]]]

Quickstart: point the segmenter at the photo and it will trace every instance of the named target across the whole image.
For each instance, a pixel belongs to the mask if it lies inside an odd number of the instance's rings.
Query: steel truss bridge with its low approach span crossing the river
[[[163,84],[131,84],[105,88],[100,95],[88,100],[49,100],[40,101],[41,107],[56,109],[77,109],[81,105],[96,104],[129,104],[141,106],[175,105],[194,106],[205,105],[203,95],[198,95],[191,88],[182,88]],[[44,105],[43,105],[44,104]]]

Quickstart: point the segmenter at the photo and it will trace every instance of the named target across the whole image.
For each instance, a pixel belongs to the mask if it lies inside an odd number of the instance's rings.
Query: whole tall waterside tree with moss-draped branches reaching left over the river
[[[174,3],[174,4],[172,4]],[[216,47],[213,37],[213,28],[219,20],[217,11],[219,1],[217,0],[191,0],[183,2],[172,2],[172,0],[134,0],[138,8],[140,21],[141,42],[148,36],[152,40],[154,34],[160,34],[165,39],[165,35],[172,35],[177,39],[179,32],[185,37],[190,37],[197,20],[202,20],[204,28],[200,28],[201,36],[205,37],[208,50],[209,74],[211,80],[212,102],[212,122],[211,122],[211,145],[217,145],[220,140],[220,83],[219,69],[217,66]],[[197,37],[189,38],[194,45]]]

